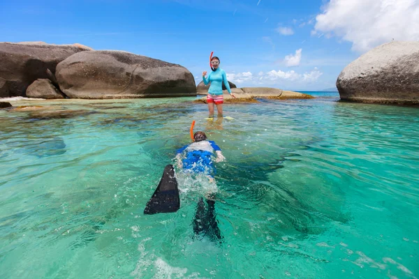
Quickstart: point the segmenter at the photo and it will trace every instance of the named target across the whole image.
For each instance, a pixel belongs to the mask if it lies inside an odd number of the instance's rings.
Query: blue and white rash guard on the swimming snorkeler
[[[185,156],[182,159],[183,169],[210,175],[215,172],[214,163],[212,163],[212,156],[214,156],[215,151],[221,151],[215,142],[203,140],[185,145],[178,149],[177,153],[185,152]]]

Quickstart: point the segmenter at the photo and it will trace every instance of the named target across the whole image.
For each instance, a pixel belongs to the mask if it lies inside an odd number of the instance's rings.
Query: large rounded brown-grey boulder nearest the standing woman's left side
[[[69,98],[196,96],[186,68],[129,52],[79,52],[59,63],[55,76]]]

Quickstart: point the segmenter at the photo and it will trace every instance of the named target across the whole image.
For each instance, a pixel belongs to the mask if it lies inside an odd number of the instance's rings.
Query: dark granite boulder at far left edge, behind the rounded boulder
[[[84,50],[89,48],[42,42],[0,43],[0,97],[25,96],[29,84],[47,78],[47,69],[55,73],[59,62]]]

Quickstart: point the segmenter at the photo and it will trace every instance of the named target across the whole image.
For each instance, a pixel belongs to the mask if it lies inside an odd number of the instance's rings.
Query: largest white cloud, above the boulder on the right
[[[341,37],[358,52],[392,39],[419,40],[419,1],[330,0],[314,30]]]

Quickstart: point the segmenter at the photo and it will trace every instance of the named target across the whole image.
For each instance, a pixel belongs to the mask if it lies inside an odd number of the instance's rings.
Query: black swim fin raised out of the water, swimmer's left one
[[[180,207],[179,189],[172,165],[166,165],[159,186],[147,202],[144,214],[176,212]]]

